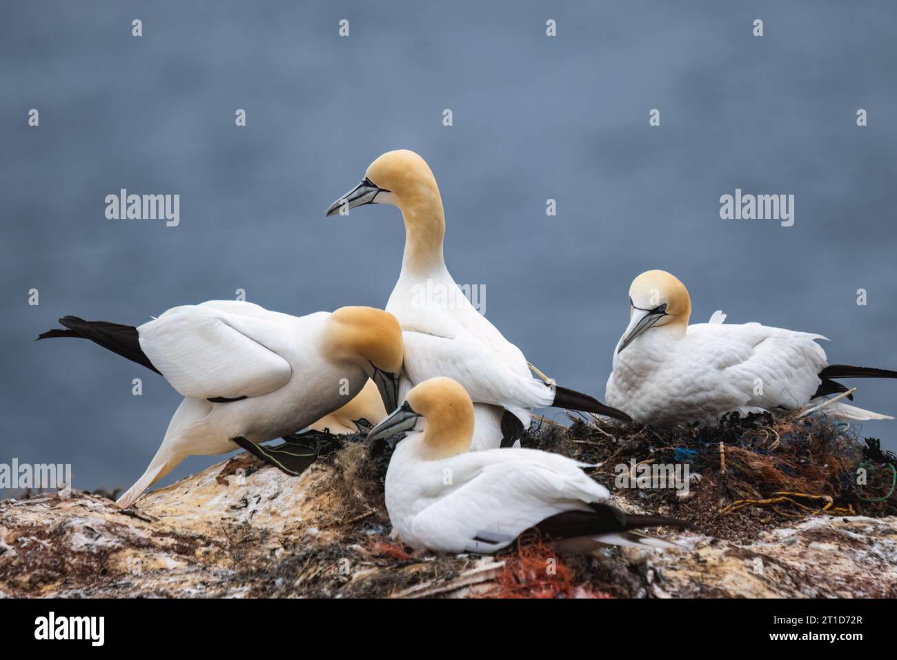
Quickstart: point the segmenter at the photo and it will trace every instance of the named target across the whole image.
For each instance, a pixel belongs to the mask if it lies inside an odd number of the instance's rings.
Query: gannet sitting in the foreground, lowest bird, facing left
[[[423,430],[417,430],[423,419]],[[386,505],[399,539],[415,549],[488,554],[536,528],[558,550],[597,545],[675,544],[631,530],[691,524],[630,515],[610,504],[588,464],[537,449],[471,452],[474,404],[450,378],[414,386],[402,406],[371,429],[370,441],[411,431],[387,470]]]

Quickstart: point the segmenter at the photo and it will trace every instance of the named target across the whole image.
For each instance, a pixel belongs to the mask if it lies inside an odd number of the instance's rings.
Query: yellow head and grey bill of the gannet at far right
[[[666,270],[649,270],[633,279],[629,300],[629,327],[623,333],[617,353],[653,328],[669,326],[685,334],[692,315],[692,298],[685,285]]]

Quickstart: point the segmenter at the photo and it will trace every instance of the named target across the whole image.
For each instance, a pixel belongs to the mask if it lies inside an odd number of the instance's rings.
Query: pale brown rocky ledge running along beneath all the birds
[[[893,515],[809,515],[750,538],[665,530],[684,546],[666,552],[553,557],[536,542],[494,558],[410,553],[389,538],[366,453],[348,444],[299,479],[239,454],[126,512],[81,491],[4,500],[0,594],[897,597]]]

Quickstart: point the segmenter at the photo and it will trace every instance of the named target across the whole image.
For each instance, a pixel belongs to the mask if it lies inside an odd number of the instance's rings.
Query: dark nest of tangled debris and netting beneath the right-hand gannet
[[[718,427],[664,430],[570,419],[572,426],[562,427],[543,418],[525,446],[597,464],[587,471],[618,497],[713,536],[739,540],[758,526],[806,515],[897,514],[897,456],[841,418],[734,412]],[[633,465],[661,464],[688,466],[686,497],[675,488],[614,488],[622,466],[636,476]]]

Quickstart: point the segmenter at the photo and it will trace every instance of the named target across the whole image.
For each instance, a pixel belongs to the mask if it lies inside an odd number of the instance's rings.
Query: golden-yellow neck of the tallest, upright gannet
[[[404,199],[400,208],[405,220],[402,272],[430,275],[445,270],[442,239],[446,233],[446,220],[439,189],[423,189],[420,194]]]

